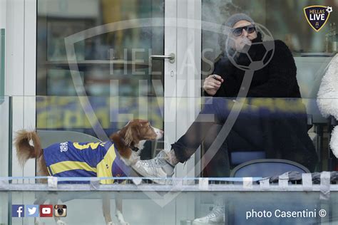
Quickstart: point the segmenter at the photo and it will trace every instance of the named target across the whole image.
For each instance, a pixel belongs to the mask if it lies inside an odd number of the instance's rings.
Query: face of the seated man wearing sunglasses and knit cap
[[[245,26],[251,26],[252,23],[249,21],[238,21],[235,23],[234,26],[232,26],[232,30],[234,28],[239,27],[245,27]],[[235,36],[233,33],[231,34],[233,40],[235,40],[235,48],[237,51],[242,52],[243,48],[245,46],[251,46],[252,40],[257,38],[257,31],[254,31],[252,33],[248,33],[245,28],[242,28],[242,33],[240,36]]]

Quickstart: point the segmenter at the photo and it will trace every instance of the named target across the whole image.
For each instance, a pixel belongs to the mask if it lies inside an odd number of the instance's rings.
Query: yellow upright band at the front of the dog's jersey
[[[99,162],[96,167],[98,169],[97,177],[113,177],[113,174],[111,173],[111,168],[113,167],[113,162],[115,159],[116,159],[115,147],[114,145],[111,145],[106,155],[103,157],[101,162]],[[113,184],[114,180],[113,179],[102,179],[100,183],[101,184]]]

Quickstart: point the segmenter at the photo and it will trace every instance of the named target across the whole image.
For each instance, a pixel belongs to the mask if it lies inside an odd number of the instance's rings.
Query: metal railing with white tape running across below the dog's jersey
[[[311,176],[309,176],[311,177]],[[43,183],[36,183],[37,180]],[[114,180],[114,184],[100,184],[101,180]],[[155,182],[161,182],[156,184]],[[124,181],[122,184],[117,182]],[[58,182],[70,182],[58,184]],[[74,184],[71,182],[83,182]],[[329,186],[327,186],[329,185]],[[338,191],[334,182],[312,184],[307,181],[292,181],[280,176],[278,182],[270,182],[270,177],[0,177],[0,191],[126,191],[126,192],[248,192],[248,191],[313,191],[322,192],[323,189]]]

